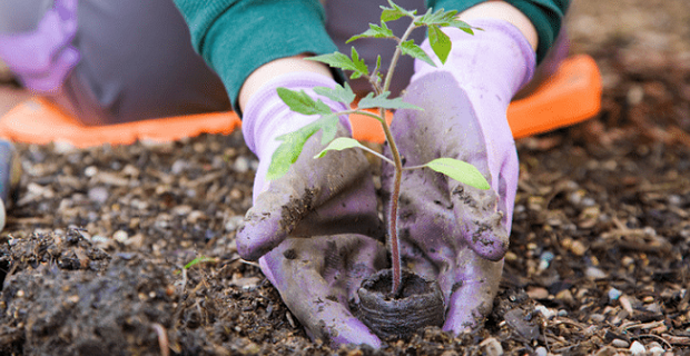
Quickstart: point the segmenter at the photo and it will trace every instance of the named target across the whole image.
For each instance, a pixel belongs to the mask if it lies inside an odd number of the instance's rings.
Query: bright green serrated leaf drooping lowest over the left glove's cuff
[[[318,125],[313,122],[294,132],[279,136],[277,139],[283,142],[270,157],[270,165],[268,165],[266,179],[274,180],[285,176],[289,167],[299,158],[304,144],[319,129]]]

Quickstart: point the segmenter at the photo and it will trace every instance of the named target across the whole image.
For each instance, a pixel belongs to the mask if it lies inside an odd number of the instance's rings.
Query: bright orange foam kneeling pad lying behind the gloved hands
[[[507,120],[513,136],[520,138],[583,121],[597,115],[600,105],[597,63],[589,56],[576,56],[566,59],[530,97],[512,102]],[[388,112],[386,118],[390,121],[393,115]],[[353,115],[351,121],[356,139],[383,142],[383,129],[375,119]],[[83,148],[144,139],[169,141],[203,132],[230,134],[240,123],[234,112],[214,112],[89,127],[36,97],[0,118],[0,137],[32,144],[65,141]]]

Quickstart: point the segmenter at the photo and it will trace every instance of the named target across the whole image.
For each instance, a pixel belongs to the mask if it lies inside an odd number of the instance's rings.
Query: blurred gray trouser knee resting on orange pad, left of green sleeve
[[[55,100],[85,123],[228,110],[169,0],[80,0],[81,60]]]

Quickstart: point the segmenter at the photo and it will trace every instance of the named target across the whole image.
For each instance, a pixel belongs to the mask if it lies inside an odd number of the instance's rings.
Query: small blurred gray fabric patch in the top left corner
[[[36,29],[52,0],[1,0],[0,33],[19,33]]]

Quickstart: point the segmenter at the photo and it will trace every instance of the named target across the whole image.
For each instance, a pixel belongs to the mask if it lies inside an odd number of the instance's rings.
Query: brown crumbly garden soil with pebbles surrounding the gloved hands
[[[480,329],[377,352],[312,342],[237,255],[256,159],[236,132],[19,145],[0,354],[690,354],[689,18],[687,0],[575,2],[572,50],[597,59],[603,108],[518,141],[510,251]]]

